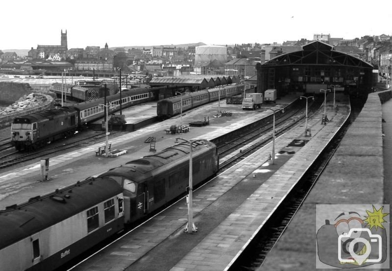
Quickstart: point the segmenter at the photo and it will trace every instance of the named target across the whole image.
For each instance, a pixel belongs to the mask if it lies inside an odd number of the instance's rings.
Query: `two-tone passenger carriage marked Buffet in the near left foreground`
[[[0,211],[0,270],[52,271],[123,229],[123,189],[91,178]]]

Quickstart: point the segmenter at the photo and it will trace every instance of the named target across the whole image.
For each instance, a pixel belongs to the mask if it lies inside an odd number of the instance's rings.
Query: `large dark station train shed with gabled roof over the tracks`
[[[368,62],[314,41],[302,50],[257,63],[257,92],[276,89],[278,96],[294,91],[319,94],[319,89],[340,86],[346,93],[361,95],[371,91],[373,69]]]

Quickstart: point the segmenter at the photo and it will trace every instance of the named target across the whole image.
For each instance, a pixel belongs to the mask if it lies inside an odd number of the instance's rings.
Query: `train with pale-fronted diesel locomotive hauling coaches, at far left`
[[[157,99],[146,88],[122,91],[122,107]],[[120,110],[120,94],[108,96],[110,111]],[[17,150],[41,148],[49,142],[72,136],[87,123],[104,117],[104,98],[17,117],[11,124],[11,144]]]

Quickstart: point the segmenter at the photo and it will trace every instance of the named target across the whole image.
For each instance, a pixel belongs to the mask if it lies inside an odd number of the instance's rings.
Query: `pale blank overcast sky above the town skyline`
[[[0,3],[0,49],[282,43],[392,34],[391,0],[20,0]]]

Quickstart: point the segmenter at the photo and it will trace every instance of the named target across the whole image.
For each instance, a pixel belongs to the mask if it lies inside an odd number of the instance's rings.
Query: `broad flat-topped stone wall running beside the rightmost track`
[[[258,271],[316,269],[316,204],[382,204],[384,166],[381,101],[369,94],[319,180]]]

